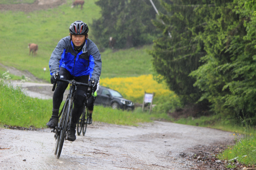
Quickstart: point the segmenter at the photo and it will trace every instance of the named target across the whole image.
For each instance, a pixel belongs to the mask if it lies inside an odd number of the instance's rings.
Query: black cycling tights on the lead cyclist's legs
[[[60,67],[60,79],[66,79],[66,80],[75,80],[77,82],[81,83],[88,83],[89,75],[83,75],[79,77],[72,76],[66,68]],[[60,104],[63,100],[63,93],[65,92],[66,88],[68,87],[68,83],[64,82],[57,82],[56,89],[53,94],[53,112],[58,111],[60,109]],[[83,102],[85,101],[85,96],[87,94],[87,87],[84,86],[77,86],[76,95],[74,96],[74,108],[72,113],[72,128],[75,128],[76,123],[78,122],[82,111],[83,111]]]

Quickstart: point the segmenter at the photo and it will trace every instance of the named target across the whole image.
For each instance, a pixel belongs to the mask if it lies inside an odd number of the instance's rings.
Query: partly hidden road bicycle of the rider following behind
[[[87,96],[89,96],[89,93],[87,93]],[[88,104],[88,98],[86,97],[85,102],[83,103],[83,112],[77,124],[78,135],[80,135],[81,132],[83,132],[83,136],[84,136],[86,132],[86,128],[89,120],[89,110],[88,110],[87,104]]]

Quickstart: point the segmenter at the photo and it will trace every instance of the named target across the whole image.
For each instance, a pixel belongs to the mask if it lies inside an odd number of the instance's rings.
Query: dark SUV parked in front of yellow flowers
[[[103,86],[99,87],[94,104],[111,106],[113,109],[134,110],[132,101],[123,98],[118,91]]]

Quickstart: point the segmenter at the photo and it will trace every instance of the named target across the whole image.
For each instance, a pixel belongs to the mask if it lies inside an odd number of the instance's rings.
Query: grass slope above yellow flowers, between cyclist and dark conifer
[[[152,73],[152,56],[148,54],[151,45],[113,52],[111,49],[101,53],[101,77],[134,77]]]

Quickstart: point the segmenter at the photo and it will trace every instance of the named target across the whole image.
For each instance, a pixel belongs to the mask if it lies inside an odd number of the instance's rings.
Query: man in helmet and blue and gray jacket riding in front
[[[70,25],[69,36],[60,40],[49,60],[50,81],[52,84],[56,79],[66,79],[88,83],[89,86],[92,85],[93,91],[97,89],[97,83],[101,74],[101,55],[97,46],[92,40],[88,39],[88,30],[87,24],[82,21],[75,21]],[[59,71],[58,77],[55,75],[57,71]],[[53,94],[52,117],[47,123],[47,126],[50,128],[58,126],[60,104],[63,100],[63,93],[67,87],[68,83],[57,82]],[[76,123],[82,114],[82,106],[86,98],[87,90],[87,87],[77,86],[76,95],[74,96],[70,131],[67,136],[69,141],[76,139]]]

